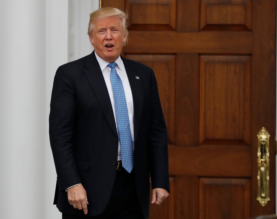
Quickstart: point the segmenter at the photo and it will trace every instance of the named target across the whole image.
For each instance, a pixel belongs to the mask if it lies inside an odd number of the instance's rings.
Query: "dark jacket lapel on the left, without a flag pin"
[[[98,102],[100,103],[102,111],[104,112],[109,125],[111,126],[113,132],[115,132],[117,135],[111,99],[94,51],[89,56],[87,56],[84,72],[87,79],[89,80],[91,88],[93,89],[98,99]]]

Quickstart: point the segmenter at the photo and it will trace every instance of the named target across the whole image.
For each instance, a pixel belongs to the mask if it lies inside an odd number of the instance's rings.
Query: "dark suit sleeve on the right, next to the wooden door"
[[[167,130],[153,70],[151,73],[151,116],[148,139],[152,189],[163,188],[170,192]]]

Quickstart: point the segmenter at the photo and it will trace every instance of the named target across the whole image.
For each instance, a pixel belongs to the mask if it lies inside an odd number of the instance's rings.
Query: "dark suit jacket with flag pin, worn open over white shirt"
[[[167,131],[151,68],[123,60],[134,103],[134,168],[142,212],[149,217],[152,188],[169,191]],[[136,79],[136,76],[139,79]],[[94,51],[60,66],[50,103],[49,136],[57,171],[54,204],[67,214],[84,215],[69,203],[65,188],[82,183],[88,215],[100,214],[116,173],[118,136],[111,100]]]

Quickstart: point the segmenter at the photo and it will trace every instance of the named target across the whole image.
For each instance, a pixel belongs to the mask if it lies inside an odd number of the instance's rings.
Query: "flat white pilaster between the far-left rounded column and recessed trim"
[[[53,205],[56,170],[49,142],[49,113],[53,80],[57,68],[68,62],[68,0],[46,0],[46,183],[45,219],[61,219]]]

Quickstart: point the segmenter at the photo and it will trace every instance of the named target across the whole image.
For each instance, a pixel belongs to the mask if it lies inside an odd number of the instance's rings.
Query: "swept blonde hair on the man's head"
[[[126,35],[127,39],[126,42],[123,43],[123,45],[125,46],[126,43],[128,42],[128,30],[127,30],[127,19],[128,19],[128,14],[127,12],[123,12],[121,10],[119,10],[118,8],[100,8],[94,12],[92,12],[91,14],[89,14],[89,27],[87,29],[87,34],[91,35],[93,32],[93,28],[94,28],[94,22],[98,19],[101,18],[106,18],[106,17],[111,17],[111,16],[117,16],[118,18],[120,18],[121,20],[121,26],[123,29],[123,33],[124,35]]]

